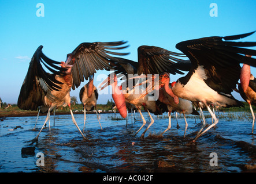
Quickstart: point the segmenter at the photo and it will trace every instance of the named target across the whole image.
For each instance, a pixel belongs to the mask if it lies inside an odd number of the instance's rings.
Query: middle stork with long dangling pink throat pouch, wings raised
[[[181,62],[184,60],[176,58],[176,56],[184,57],[183,54],[170,52],[161,47],[142,45],[138,48],[138,62],[133,62],[132,60],[123,59],[121,57],[115,57],[115,59],[118,60],[118,65],[114,67],[114,70],[116,70],[114,72],[115,74],[112,76],[110,74],[109,77],[105,81],[103,81],[101,85],[99,85],[99,86],[102,86],[104,83],[106,83],[103,87],[101,87],[101,89],[103,89],[106,86],[111,85],[111,83],[113,83],[114,81],[115,82],[117,81],[116,74],[123,74],[123,76],[125,76],[127,80],[125,80],[122,83],[122,85],[119,87],[120,93],[123,93],[125,102],[135,105],[135,107],[138,109],[138,112],[140,113],[140,116],[142,117],[142,120],[143,120],[142,127],[139,128],[139,130],[135,133],[135,135],[144,127],[144,125],[146,125],[146,120],[144,119],[140,110],[142,106],[144,107],[144,109],[146,109],[147,113],[149,113],[149,116],[151,118],[151,122],[149,126],[140,136],[141,138],[144,137],[144,134],[146,133],[146,131],[154,123],[154,119],[151,116],[150,112],[154,114],[162,114],[162,112],[161,112],[161,109],[158,108],[156,104],[157,99],[154,99],[153,95],[147,94],[145,97],[137,101],[136,98],[140,96],[142,92],[139,92],[139,91],[141,91],[142,89],[140,87],[133,87],[133,85],[129,86],[128,79],[130,78],[130,75],[159,74],[166,70],[171,74],[177,74],[177,73],[183,74],[183,72],[179,71],[177,67],[175,67],[175,64],[176,64],[175,62]],[[113,86],[113,87],[117,87],[117,83],[116,83],[116,86]],[[119,94],[120,97],[121,95],[122,94]],[[123,114],[126,117],[127,108],[124,102],[121,102],[121,99],[123,99],[123,97],[116,98],[114,95],[113,99],[114,99],[114,102],[116,103],[117,109],[120,112],[121,116]],[[115,100],[120,102],[116,102]],[[118,104],[122,105],[120,109]],[[120,111],[122,109],[124,110],[124,112]]]

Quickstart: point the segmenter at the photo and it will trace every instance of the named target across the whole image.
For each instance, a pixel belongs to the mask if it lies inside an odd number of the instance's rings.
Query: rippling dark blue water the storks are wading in
[[[149,122],[147,114],[143,114]],[[210,129],[195,143],[191,140],[201,128],[198,116],[187,117],[185,138],[182,117],[179,117],[180,128],[176,128],[176,119],[172,118],[172,128],[159,137],[157,135],[168,127],[167,114],[153,116],[155,122],[145,139],[140,139],[140,135],[148,124],[134,136],[142,125],[138,114],[135,114],[136,122],[133,120],[132,124],[129,114],[128,125],[127,120],[115,120],[114,114],[100,116],[103,130],[95,114],[87,115],[85,135],[90,141],[82,140],[70,115],[59,115],[55,117],[54,127],[51,117],[51,131],[47,123],[38,144],[33,145],[25,141],[38,134],[45,116],[39,117],[35,131],[32,128],[36,117],[4,118],[0,122],[0,172],[256,171],[256,137],[249,135],[250,113],[232,113],[232,116],[219,113],[221,118],[216,129]],[[83,129],[83,114],[75,114],[75,118],[80,129]],[[207,118],[207,122],[212,123],[210,118]],[[21,152],[25,148],[31,150]],[[212,152],[215,155],[210,157]],[[44,166],[36,165],[38,153],[44,156]]]

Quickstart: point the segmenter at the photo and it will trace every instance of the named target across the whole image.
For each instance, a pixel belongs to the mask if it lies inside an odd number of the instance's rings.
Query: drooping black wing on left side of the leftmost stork
[[[58,84],[62,83],[55,79],[55,75],[60,74],[65,69],[57,66],[60,62],[55,62],[46,57],[42,52],[42,48],[43,46],[40,45],[36,49],[29,63],[28,72],[18,96],[18,108],[20,109],[36,110],[38,106],[43,105],[43,97],[48,89],[61,89]],[[46,72],[42,63],[53,74]]]

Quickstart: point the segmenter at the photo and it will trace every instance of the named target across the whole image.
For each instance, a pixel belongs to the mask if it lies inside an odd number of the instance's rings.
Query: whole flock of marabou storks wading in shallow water
[[[205,118],[203,118],[203,125],[198,131],[195,141],[218,122],[211,106],[243,106],[242,102],[232,96],[233,90],[238,91],[250,105],[253,115],[251,133],[253,133],[255,118],[251,105],[256,105],[256,80],[251,75],[250,66],[256,67],[256,59],[252,57],[256,56],[256,50],[246,47],[255,47],[256,42],[233,41],[253,33],[182,41],[176,44],[176,48],[183,53],[143,45],[138,48],[138,62],[116,57],[128,54],[113,51],[127,48],[128,45],[125,45],[127,44],[125,41],[81,43],[67,55],[66,62],[49,59],[42,52],[43,46],[41,45],[36,49],[29,63],[28,72],[18,97],[18,108],[40,109],[47,112],[44,121],[44,125],[46,125],[52,110],[68,105],[73,123],[83,139],[88,140],[78,127],[71,110],[71,88],[75,90],[81,82],[84,82],[84,79],[89,79],[89,82],[80,90],[80,100],[84,105],[85,124],[86,110],[91,110],[92,107],[96,108],[98,99],[97,87],[93,84],[94,74],[97,70],[113,70],[114,72],[101,83],[101,89],[109,85],[112,86],[112,97],[122,117],[127,117],[128,106],[135,106],[138,109],[143,125],[136,134],[146,124],[141,113],[142,107],[150,117],[150,113],[169,112],[169,125],[162,134],[170,128],[170,112],[183,113],[185,118],[185,114],[198,114],[194,109],[195,106],[199,108],[199,113],[203,117],[202,108],[206,108],[214,122],[203,130],[206,124]],[[243,63],[243,67],[240,67],[240,63]],[[47,68],[50,73],[44,68]],[[187,75],[170,83],[171,75],[184,74],[182,71],[188,71]],[[127,81],[124,81],[121,86],[117,86],[118,74],[123,74],[127,78]],[[137,77],[129,79],[129,74],[136,74]],[[145,79],[142,82],[140,78]],[[128,80],[133,80],[132,86],[128,85]],[[136,80],[139,81],[139,85],[135,84]],[[240,83],[238,83],[239,80]],[[141,87],[143,83],[146,83],[145,89]],[[236,85],[238,85],[238,89],[236,89]],[[128,93],[135,90],[139,90],[139,93]],[[158,90],[158,98],[151,93],[153,90]],[[144,137],[144,133],[153,123],[154,120],[151,117],[151,122],[141,137]],[[99,122],[99,124],[101,123]],[[185,131],[187,126],[187,121],[185,121]],[[40,132],[32,142],[38,141]]]

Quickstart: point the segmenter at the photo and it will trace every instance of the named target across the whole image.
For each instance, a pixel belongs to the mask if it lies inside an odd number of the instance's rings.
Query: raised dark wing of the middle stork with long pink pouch
[[[138,75],[140,74],[184,74],[172,65],[184,61],[178,57],[185,57],[183,53],[170,52],[161,47],[143,45],[138,48]]]

